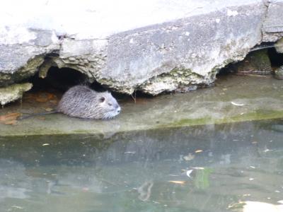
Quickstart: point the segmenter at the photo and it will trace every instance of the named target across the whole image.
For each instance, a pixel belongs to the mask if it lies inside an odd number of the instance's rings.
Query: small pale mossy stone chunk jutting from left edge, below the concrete
[[[4,106],[8,102],[13,102],[23,97],[23,92],[30,90],[31,83],[13,84],[6,88],[0,88],[0,105]]]

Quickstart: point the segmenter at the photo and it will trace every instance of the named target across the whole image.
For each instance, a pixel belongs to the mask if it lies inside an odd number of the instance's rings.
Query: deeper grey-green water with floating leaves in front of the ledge
[[[230,211],[277,204],[283,120],[0,138],[0,211]],[[243,209],[239,209],[240,211]]]

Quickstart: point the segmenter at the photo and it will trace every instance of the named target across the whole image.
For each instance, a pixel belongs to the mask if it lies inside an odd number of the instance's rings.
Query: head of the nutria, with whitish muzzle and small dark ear
[[[98,104],[100,105],[101,112],[103,112],[102,119],[111,119],[121,112],[121,107],[117,100],[108,91],[99,93]]]

